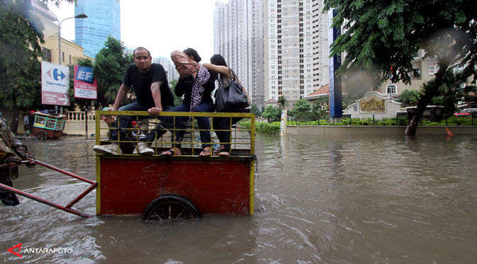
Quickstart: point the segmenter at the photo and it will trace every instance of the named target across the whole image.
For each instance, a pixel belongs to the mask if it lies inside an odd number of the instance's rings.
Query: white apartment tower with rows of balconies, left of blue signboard
[[[328,84],[327,15],[323,0],[267,0],[265,101],[296,101]]]

